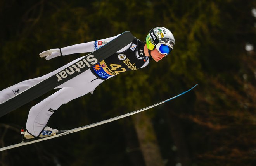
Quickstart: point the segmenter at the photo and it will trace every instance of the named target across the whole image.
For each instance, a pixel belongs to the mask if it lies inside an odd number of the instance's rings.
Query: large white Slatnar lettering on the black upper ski
[[[61,81],[62,79],[67,78],[69,75],[72,75],[76,72],[80,73],[80,70],[84,68],[86,65],[91,67],[91,65],[95,65],[98,62],[94,55],[88,55],[85,58],[81,59],[76,64],[67,67],[66,69],[62,70],[58,74],[56,74],[57,81]]]

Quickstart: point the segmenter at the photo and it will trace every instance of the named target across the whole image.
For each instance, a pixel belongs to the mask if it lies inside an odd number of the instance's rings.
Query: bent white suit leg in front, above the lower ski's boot
[[[55,110],[62,104],[91,92],[103,81],[97,79],[90,70],[86,70],[57,87],[61,89],[30,109],[26,129],[34,136],[40,135]]]

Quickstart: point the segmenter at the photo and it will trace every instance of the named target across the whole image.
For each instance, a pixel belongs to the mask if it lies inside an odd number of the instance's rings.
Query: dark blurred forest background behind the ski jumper
[[[199,84],[144,113],[0,152],[0,165],[256,165],[256,1],[0,0],[0,25],[0,90],[86,55],[39,57],[51,48],[123,31],[145,41],[157,26],[175,36],[167,58],[61,106],[52,128],[122,115]],[[0,147],[21,142],[29,109],[54,91],[0,118]]]

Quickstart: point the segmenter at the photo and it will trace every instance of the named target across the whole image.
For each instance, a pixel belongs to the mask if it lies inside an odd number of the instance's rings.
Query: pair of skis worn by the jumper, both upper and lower
[[[55,87],[63,84],[64,82],[66,82],[66,81],[72,79],[73,77],[76,77],[77,75],[81,74],[82,72],[88,70],[96,63],[108,58],[109,56],[113,55],[117,51],[121,50],[121,48],[132,43],[133,38],[134,37],[130,32],[125,31],[120,36],[113,39],[111,42],[102,46],[98,50],[95,50],[92,53],[90,53],[86,56],[83,56],[82,58],[80,58],[79,60],[74,62],[73,64],[67,66],[66,68],[61,68],[61,70],[59,70],[56,74],[52,75],[51,77],[43,80],[42,82],[36,84],[35,86],[30,87],[26,91],[23,91],[23,92],[17,94],[16,96],[8,99],[7,101],[1,103],[0,104],[0,117],[6,115],[7,113],[10,113],[11,111],[21,107],[22,105],[24,105],[26,103],[29,103],[33,99],[38,98],[39,96],[42,96],[43,94],[49,92],[50,90],[54,89]],[[195,86],[197,86],[197,85],[195,85]],[[93,123],[90,125],[86,125],[83,127],[74,128],[72,130],[68,130],[63,133],[58,133],[58,134],[50,136],[50,137],[40,137],[40,138],[31,139],[31,140],[27,140],[27,141],[22,140],[22,142],[19,144],[14,144],[14,145],[0,148],[0,151],[12,149],[12,148],[23,146],[23,145],[33,144],[35,142],[40,142],[40,141],[44,141],[44,140],[48,140],[48,139],[53,139],[56,137],[61,137],[63,135],[78,132],[81,130],[85,130],[87,128],[92,128],[92,127],[95,127],[98,125],[102,125],[104,123],[109,123],[114,120],[125,118],[127,116],[131,116],[136,113],[139,113],[139,112],[148,110],[150,108],[153,108],[155,106],[158,106],[160,104],[166,103],[167,101],[170,101],[171,99],[177,98],[178,96],[181,96],[181,95],[189,92],[194,87],[192,87],[188,91],[178,94],[177,96],[174,96],[173,98],[161,101],[160,103],[154,104],[154,105],[146,107],[146,108],[142,108],[137,111],[133,111],[133,112],[130,112],[130,113],[127,113],[124,115],[116,116],[114,118],[110,118],[110,119],[107,119],[107,120],[104,120],[101,122],[97,122],[97,123]]]

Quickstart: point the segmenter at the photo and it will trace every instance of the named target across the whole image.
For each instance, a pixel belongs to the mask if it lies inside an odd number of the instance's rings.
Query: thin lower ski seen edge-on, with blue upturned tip
[[[196,84],[194,87],[196,87],[198,84]],[[191,89],[185,91],[185,92],[182,92],[181,94],[178,94],[177,96],[174,96],[170,99],[166,99],[164,101],[161,101],[159,103],[156,103],[152,106],[148,106],[148,107],[145,107],[145,108],[142,108],[140,110],[137,110],[137,111],[133,111],[133,112],[130,112],[130,113],[126,113],[124,115],[120,115],[120,116],[116,116],[114,118],[110,118],[110,119],[107,119],[107,120],[103,120],[103,121],[100,121],[100,122],[96,122],[96,123],[92,123],[90,125],[85,125],[85,126],[82,126],[82,127],[78,127],[78,128],[74,128],[74,129],[71,129],[71,130],[67,130],[66,132],[63,132],[63,133],[59,133],[59,134],[56,134],[56,135],[53,135],[53,136],[49,136],[49,137],[40,137],[40,138],[36,138],[36,139],[31,139],[31,140],[28,140],[28,141],[22,141],[21,143],[19,144],[14,144],[14,145],[10,145],[10,146],[7,146],[7,147],[2,147],[0,148],[0,151],[4,151],[4,150],[7,150],[7,149],[12,149],[12,148],[16,148],[16,147],[20,147],[20,146],[24,146],[24,145],[28,145],[28,144],[33,144],[35,142],[40,142],[40,141],[44,141],[44,140],[48,140],[48,139],[53,139],[53,138],[56,138],[56,137],[61,137],[63,135],[67,135],[67,134],[71,134],[71,133],[75,133],[75,132],[79,132],[81,130],[85,130],[85,129],[88,129],[88,128],[92,128],[92,127],[95,127],[95,126],[99,126],[99,125],[102,125],[102,124],[105,124],[105,123],[109,123],[109,122],[112,122],[112,121],[115,121],[115,120],[118,120],[118,119],[121,119],[121,118],[125,118],[127,116],[131,116],[131,115],[134,115],[134,114],[137,114],[137,113],[140,113],[142,111],[145,111],[145,110],[148,110],[150,108],[153,108],[155,106],[158,106],[160,104],[163,104],[163,103],[166,103],[172,99],[175,99],[189,91],[191,91],[192,89],[194,89],[194,87],[192,87]],[[63,131],[63,130],[61,130]],[[60,131],[60,132],[61,132]]]

